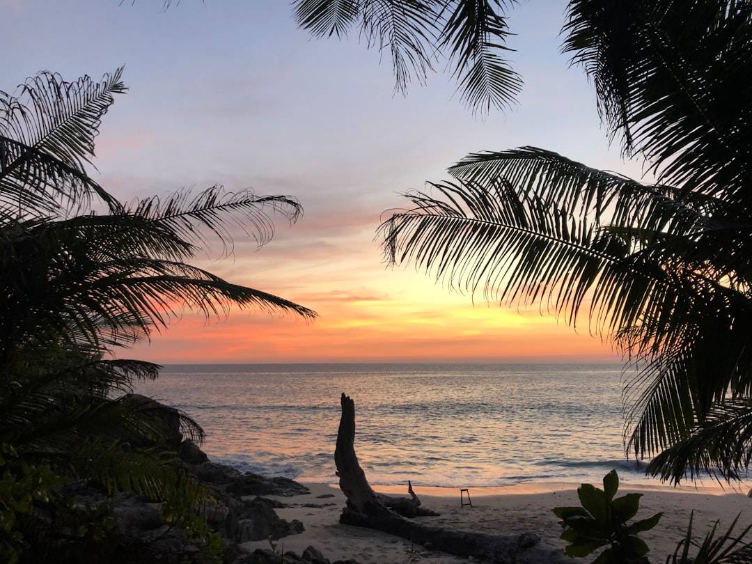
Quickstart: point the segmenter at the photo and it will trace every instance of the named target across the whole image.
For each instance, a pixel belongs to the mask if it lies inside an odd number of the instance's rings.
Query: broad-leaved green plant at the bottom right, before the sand
[[[581,507],[553,509],[561,519],[561,538],[569,541],[568,556],[588,556],[595,550],[608,548],[595,560],[597,564],[627,564],[647,554],[647,544],[638,533],[652,529],[662,513],[627,523],[637,514],[641,493],[628,493],[614,499],[619,489],[619,476],[611,470],[603,478],[603,489],[582,484],[577,493]]]

